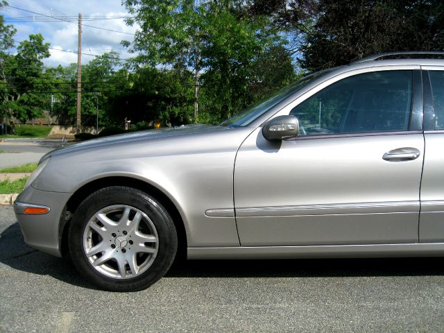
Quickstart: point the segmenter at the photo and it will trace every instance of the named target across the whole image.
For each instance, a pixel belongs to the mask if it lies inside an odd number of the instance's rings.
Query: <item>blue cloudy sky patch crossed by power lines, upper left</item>
[[[5,24],[12,24],[17,29],[14,37],[17,44],[34,33],[41,33],[44,42],[51,44],[49,50],[51,57],[44,60],[46,66],[67,66],[72,62],[77,63],[76,53],[58,50],[77,52],[79,12],[82,13],[83,24],[85,24],[82,33],[82,53],[100,56],[113,49],[121,58],[130,57],[120,42],[121,40],[132,41],[136,28],[127,26],[123,18],[115,18],[130,15],[126,8],[121,6],[121,0],[7,1],[9,6],[1,8],[0,15],[3,15]],[[97,20],[98,16],[100,20]],[[41,22],[42,19],[45,22]],[[82,63],[86,64],[94,58],[94,56],[83,54]]]

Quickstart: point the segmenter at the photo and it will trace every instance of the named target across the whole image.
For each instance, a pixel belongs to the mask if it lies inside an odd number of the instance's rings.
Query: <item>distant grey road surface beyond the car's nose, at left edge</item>
[[[39,162],[40,157],[62,146],[61,139],[6,139],[0,142],[0,169]]]

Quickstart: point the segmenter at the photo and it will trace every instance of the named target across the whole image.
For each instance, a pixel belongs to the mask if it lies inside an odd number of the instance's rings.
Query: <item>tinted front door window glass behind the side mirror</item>
[[[412,71],[350,76],[309,97],[290,114],[299,119],[300,135],[408,130],[412,81]]]

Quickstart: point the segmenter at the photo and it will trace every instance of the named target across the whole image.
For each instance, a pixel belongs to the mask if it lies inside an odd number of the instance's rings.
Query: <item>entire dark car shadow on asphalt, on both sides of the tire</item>
[[[50,275],[57,280],[96,289],[69,259],[53,257],[24,243],[19,224],[0,235],[0,262],[19,271]],[[444,258],[182,260],[169,278],[309,278],[444,275]]]

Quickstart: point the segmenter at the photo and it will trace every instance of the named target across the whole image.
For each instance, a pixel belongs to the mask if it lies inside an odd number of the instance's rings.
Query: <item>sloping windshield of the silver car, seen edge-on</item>
[[[331,69],[327,69],[326,71],[331,71]],[[242,110],[237,114],[234,114],[233,117],[223,121],[223,123],[221,123],[221,126],[247,126],[248,124],[255,121],[255,119],[261,117],[262,114],[273,108],[274,105],[278,104],[280,101],[283,101],[287,96],[293,94],[293,92],[296,92],[302,87],[305,87],[305,85],[308,85],[319,76],[325,74],[326,71],[318,71],[317,73],[305,76],[305,78],[302,78],[295,83],[291,83],[291,85],[287,85],[287,87],[280,89],[273,95],[268,96],[265,99],[262,99],[261,101],[248,106],[248,108]]]

